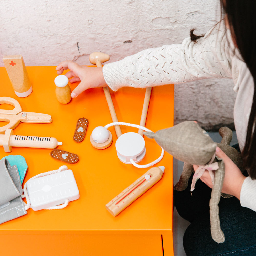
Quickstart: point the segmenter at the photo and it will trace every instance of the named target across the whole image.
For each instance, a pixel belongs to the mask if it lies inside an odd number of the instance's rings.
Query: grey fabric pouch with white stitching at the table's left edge
[[[22,186],[16,165],[0,160],[0,224],[27,214],[21,197]]]

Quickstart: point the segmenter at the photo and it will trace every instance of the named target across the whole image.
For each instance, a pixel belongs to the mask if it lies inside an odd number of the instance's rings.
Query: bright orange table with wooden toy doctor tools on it
[[[15,95],[7,72],[0,68],[0,96],[15,98],[23,111],[50,114],[52,123],[20,123],[15,135],[55,137],[63,142],[58,148],[76,153],[76,164],[65,164],[50,157],[50,149],[13,147],[6,153],[0,146],[0,157],[22,155],[28,170],[24,182],[32,176],[67,165],[76,178],[80,198],[60,210],[28,209],[28,214],[0,225],[2,255],[20,251],[29,255],[173,255],[172,187],[173,159],[165,153],[157,166],[165,166],[163,178],[133,202],[118,216],[113,217],[105,204],[144,174],[122,163],[115,150],[116,134],[113,127],[112,145],[97,150],[90,144],[90,134],[96,126],[111,123],[102,88],[89,89],[66,105],[55,96],[55,67],[27,67],[33,92],[26,98]],[[76,84],[71,84],[74,89]],[[120,122],[140,123],[145,89],[122,88],[111,92]],[[0,108],[10,105],[2,104]],[[87,118],[86,138],[73,141],[76,122]],[[2,122],[1,126],[6,123]],[[152,131],[173,126],[173,86],[152,89],[146,127]],[[122,133],[137,129],[121,126]],[[146,156],[139,164],[157,159],[161,148],[154,140],[145,138]],[[24,183],[23,183],[24,185]]]

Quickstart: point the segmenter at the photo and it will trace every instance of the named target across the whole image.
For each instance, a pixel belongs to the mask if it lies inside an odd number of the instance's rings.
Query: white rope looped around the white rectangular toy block
[[[53,170],[53,171],[37,174],[37,175],[33,176],[32,178],[30,178],[29,180],[43,177],[43,176],[50,175],[50,174],[54,174],[54,173],[59,173],[61,171],[65,171],[67,169],[68,169],[68,167],[66,165],[62,165],[62,166],[60,166],[60,168],[58,170]],[[27,182],[28,182],[28,180],[27,180]],[[28,210],[30,208],[30,199],[29,199],[28,190],[27,190],[27,182],[24,184],[24,187],[22,189],[23,194],[21,195],[21,197],[23,197],[23,198],[25,197],[26,201],[27,201],[27,203],[24,202],[25,210]],[[62,205],[52,206],[52,207],[46,208],[46,210],[65,208],[68,205],[68,202],[69,202],[68,199],[66,199]]]

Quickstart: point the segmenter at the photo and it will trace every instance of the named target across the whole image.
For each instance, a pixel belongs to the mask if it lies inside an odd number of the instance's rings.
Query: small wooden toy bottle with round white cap
[[[67,104],[71,100],[71,89],[68,85],[68,78],[64,75],[59,75],[54,79],[56,85],[55,94],[57,100],[62,104]]]

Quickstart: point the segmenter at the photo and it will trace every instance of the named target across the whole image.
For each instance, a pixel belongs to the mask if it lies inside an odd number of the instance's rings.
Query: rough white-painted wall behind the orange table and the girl
[[[219,0],[2,0],[0,52],[22,54],[26,66],[66,59],[89,65],[94,51],[109,54],[112,62],[180,43],[193,27],[205,33],[219,13]],[[177,122],[196,119],[207,129],[232,123],[232,87],[227,79],[176,85]]]

